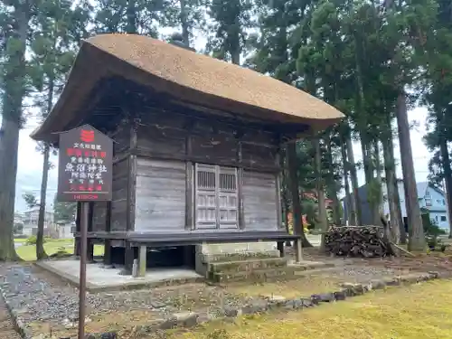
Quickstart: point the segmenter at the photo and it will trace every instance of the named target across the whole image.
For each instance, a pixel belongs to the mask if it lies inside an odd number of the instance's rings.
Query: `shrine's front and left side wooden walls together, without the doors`
[[[155,108],[123,119],[113,201],[94,204],[93,231],[192,231],[195,163],[239,168],[240,229],[278,230],[278,135],[219,120]]]

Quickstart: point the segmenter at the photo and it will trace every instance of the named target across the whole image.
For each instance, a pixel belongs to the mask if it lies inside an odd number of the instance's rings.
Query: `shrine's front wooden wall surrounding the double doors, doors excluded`
[[[190,197],[193,201],[186,183],[193,183],[194,163],[239,167],[244,206],[240,228],[277,231],[277,158],[278,138],[246,125],[158,111],[142,116],[137,127],[135,231],[193,230],[187,218],[193,207],[185,202]]]

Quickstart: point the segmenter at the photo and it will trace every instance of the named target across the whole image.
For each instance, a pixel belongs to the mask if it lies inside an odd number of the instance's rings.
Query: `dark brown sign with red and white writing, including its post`
[[[57,200],[81,202],[79,339],[84,339],[89,202],[112,199],[113,140],[84,125],[61,133],[59,148]]]

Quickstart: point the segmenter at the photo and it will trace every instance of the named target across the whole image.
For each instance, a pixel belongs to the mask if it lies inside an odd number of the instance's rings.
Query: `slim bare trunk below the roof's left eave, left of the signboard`
[[[47,193],[47,181],[49,178],[50,146],[44,145],[42,163],[41,198],[39,203],[38,232],[36,235],[36,259],[45,259],[47,255],[44,250],[44,221],[45,221],[45,198]]]

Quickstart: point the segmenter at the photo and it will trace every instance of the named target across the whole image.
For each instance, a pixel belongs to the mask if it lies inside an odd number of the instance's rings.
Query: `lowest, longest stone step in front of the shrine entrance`
[[[331,263],[301,263],[301,264],[290,264],[286,267],[280,268],[262,268],[253,269],[250,271],[240,271],[234,273],[223,273],[223,272],[209,272],[209,278],[214,283],[224,284],[231,282],[266,282],[274,280],[288,280],[303,278],[303,274],[311,274],[314,271],[318,273],[321,270],[328,268],[333,268],[334,264]]]

